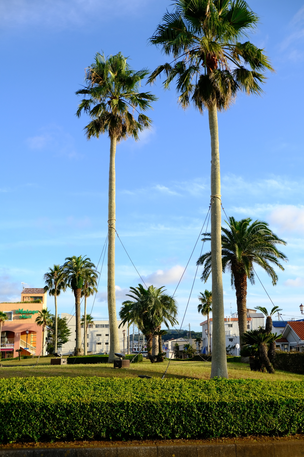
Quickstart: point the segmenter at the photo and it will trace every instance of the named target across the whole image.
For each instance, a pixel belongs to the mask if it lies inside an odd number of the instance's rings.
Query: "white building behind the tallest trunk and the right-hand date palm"
[[[210,320],[211,334],[211,352],[212,352],[212,318]],[[236,344],[240,344],[240,334],[238,330],[237,313],[232,314],[232,317],[227,316],[225,322],[226,347],[232,347],[232,355],[237,355]],[[208,353],[207,345],[207,321],[201,322],[201,338],[203,340],[201,353]],[[264,327],[264,314],[257,313],[255,309],[247,309],[247,329],[257,330],[259,327]]]

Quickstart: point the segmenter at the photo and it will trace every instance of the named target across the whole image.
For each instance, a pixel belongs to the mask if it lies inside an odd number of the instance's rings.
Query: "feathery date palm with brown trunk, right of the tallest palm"
[[[226,221],[225,221],[226,222]],[[228,228],[222,227],[222,269],[231,273],[231,285],[235,287],[237,296],[237,316],[240,335],[240,345],[243,346],[242,336],[247,331],[247,278],[254,284],[254,264],[263,268],[271,277],[273,286],[278,281],[278,275],[270,263],[284,271],[278,259],[287,261],[286,255],[276,248],[276,244],[286,245],[283,239],[274,234],[267,222],[251,218],[237,221],[229,217]],[[205,233],[204,240],[211,239],[210,233]],[[213,266],[211,251],[203,254],[197,265],[203,265],[201,280],[207,281]]]

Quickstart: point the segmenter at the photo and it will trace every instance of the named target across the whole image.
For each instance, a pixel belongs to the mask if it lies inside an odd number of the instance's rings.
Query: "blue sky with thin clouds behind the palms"
[[[86,117],[75,116],[75,91],[96,52],[121,51],[134,69],[167,59],[148,38],[171,1],[5,0],[1,21],[0,299],[20,297],[21,282],[42,287],[43,274],[71,255],[98,262],[107,233],[109,140],[87,141]],[[253,0],[261,20],[250,37],[272,60],[262,97],[238,96],[219,115],[222,202],[227,215],[268,221],[288,242],[289,258],[276,287],[257,272],[282,314],[300,316],[304,301],[303,44],[304,2]],[[174,88],[152,87],[153,128],[116,156],[116,228],[145,282],[173,293],[200,233],[210,202],[208,117],[177,105]],[[224,217],[223,217],[224,223]],[[204,248],[205,249],[205,248]],[[208,246],[206,246],[206,250]],[[201,242],[176,292],[184,313]],[[199,271],[200,273],[200,271]],[[199,330],[197,295],[211,281],[196,279],[184,326]],[[225,314],[236,311],[224,275]],[[117,243],[117,307],[140,281]],[[103,267],[93,315],[106,317]],[[20,299],[20,298],[19,298]],[[93,303],[90,300],[89,303]],[[248,307],[271,303],[248,285]],[[48,299],[53,311],[53,300]],[[71,291],[58,300],[71,312]]]

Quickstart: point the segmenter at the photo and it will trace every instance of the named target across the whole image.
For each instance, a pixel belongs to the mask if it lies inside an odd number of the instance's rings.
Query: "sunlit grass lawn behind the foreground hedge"
[[[109,363],[96,365],[50,365],[51,358],[43,357],[36,367],[31,367],[37,359],[21,361],[1,361],[0,377],[28,376],[100,376],[100,377],[138,377],[139,374],[161,377],[167,362],[151,363],[144,359],[141,363],[131,364],[130,368],[113,369]],[[18,365],[28,365],[21,367]],[[251,372],[249,365],[243,363],[228,363],[230,378],[267,379],[270,381],[303,381],[304,375],[277,370],[275,374]],[[209,379],[211,363],[208,362],[171,362],[166,378]]]

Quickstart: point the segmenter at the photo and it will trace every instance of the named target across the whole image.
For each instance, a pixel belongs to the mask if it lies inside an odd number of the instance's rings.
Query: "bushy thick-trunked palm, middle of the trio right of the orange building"
[[[75,317],[76,317],[76,344],[74,355],[82,353],[81,340],[81,323],[80,323],[80,298],[82,293],[83,282],[85,279],[96,271],[96,266],[91,262],[89,257],[73,255],[66,257],[63,265],[64,275],[67,286],[71,287],[75,296]]]

